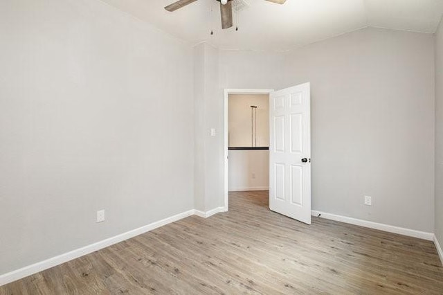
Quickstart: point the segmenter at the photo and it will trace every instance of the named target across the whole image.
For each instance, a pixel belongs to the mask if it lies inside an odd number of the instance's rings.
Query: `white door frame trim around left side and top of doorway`
[[[224,211],[229,209],[229,95],[230,94],[270,94],[274,89],[224,89]]]

